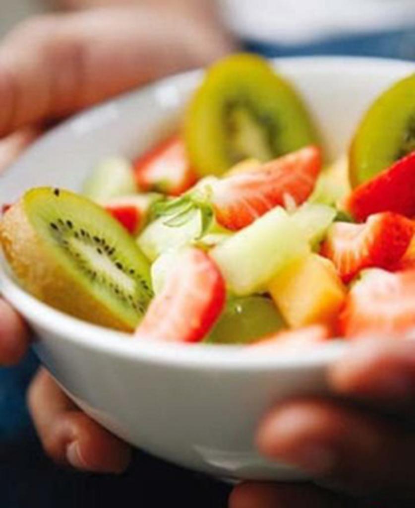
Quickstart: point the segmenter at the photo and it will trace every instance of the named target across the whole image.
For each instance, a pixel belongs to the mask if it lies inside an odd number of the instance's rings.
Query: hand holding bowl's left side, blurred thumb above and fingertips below
[[[204,65],[228,50],[200,21],[148,8],[51,15],[25,22],[0,46],[0,169],[42,130],[116,93]],[[0,365],[20,361],[28,331],[0,299]],[[43,446],[55,461],[121,472],[129,447],[84,415],[41,370],[28,403]]]

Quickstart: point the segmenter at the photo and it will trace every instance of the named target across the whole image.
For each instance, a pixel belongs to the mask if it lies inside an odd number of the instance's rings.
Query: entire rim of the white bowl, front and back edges
[[[397,69],[407,67],[415,70],[415,62],[400,59],[362,57],[362,56],[299,56],[288,58],[274,58],[270,60],[273,65],[283,64],[286,68],[298,67],[299,63],[303,69],[315,71],[323,66],[352,67],[359,72],[367,69],[368,65],[375,66],[378,72],[385,72],[385,68],[395,67]],[[381,69],[382,68],[382,69]],[[373,68],[371,72],[376,72]],[[169,83],[177,83],[182,80],[194,79],[201,73],[201,70],[192,70],[158,80],[145,87],[128,91],[113,99],[103,102],[97,106],[78,113],[68,120],[60,123],[56,128],[42,136],[23,155],[30,157],[30,152],[36,150],[46,139],[50,139],[57,133],[70,128],[73,122],[85,116],[93,114],[110,104],[117,104],[129,100],[145,91],[155,89]],[[19,165],[18,160],[7,168],[12,172]],[[1,177],[0,177],[1,180]],[[326,343],[316,344],[306,351],[306,354],[279,353],[270,355],[269,351],[254,352],[253,348],[238,345],[215,345],[215,344],[172,344],[160,343],[138,343],[131,339],[131,335],[92,325],[79,320],[68,314],[50,307],[29,293],[24,291],[15,282],[3,256],[0,256],[0,290],[6,298],[20,313],[35,327],[40,327],[61,340],[73,342],[79,347],[94,350],[102,354],[129,359],[130,361],[142,361],[158,365],[168,365],[177,369],[212,370],[224,369],[231,371],[241,370],[270,370],[275,369],[304,369],[322,368],[340,359],[348,349],[344,339],[334,339]]]

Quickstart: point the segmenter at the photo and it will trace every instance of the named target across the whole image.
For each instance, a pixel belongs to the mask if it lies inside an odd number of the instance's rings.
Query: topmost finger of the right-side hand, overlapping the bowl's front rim
[[[340,394],[405,404],[415,398],[415,341],[357,343],[329,372]]]

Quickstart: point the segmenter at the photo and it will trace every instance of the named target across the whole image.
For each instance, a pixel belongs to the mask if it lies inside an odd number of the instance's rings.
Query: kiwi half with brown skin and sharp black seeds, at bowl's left
[[[3,217],[0,240],[24,287],[91,323],[131,331],[152,297],[149,263],[99,205],[66,190],[29,190]]]

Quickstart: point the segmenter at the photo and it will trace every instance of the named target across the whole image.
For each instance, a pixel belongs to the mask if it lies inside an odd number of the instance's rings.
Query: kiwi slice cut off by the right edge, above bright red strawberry
[[[370,107],[350,149],[355,187],[415,150],[415,74],[399,81]]]

